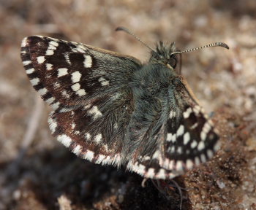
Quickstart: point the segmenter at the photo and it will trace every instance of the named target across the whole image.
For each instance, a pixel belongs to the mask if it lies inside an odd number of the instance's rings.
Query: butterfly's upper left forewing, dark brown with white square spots
[[[21,58],[33,87],[57,111],[126,88],[141,66],[127,55],[43,36],[23,39]]]

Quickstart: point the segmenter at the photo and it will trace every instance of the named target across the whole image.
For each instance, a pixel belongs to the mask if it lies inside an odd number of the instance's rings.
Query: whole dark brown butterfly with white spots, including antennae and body
[[[203,47],[216,46],[228,49],[222,42]],[[219,148],[213,123],[178,69],[179,55],[192,50],[159,42],[143,64],[87,44],[29,36],[21,59],[31,85],[53,109],[51,133],[75,155],[172,179]]]

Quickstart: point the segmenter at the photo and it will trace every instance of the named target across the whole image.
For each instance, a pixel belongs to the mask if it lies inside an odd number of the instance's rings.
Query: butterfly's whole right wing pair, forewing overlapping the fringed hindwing
[[[154,125],[148,128],[149,133],[154,132],[140,141],[133,154],[136,158],[127,166],[151,179],[172,179],[184,174],[185,170],[212,158],[219,147],[213,123],[182,77],[170,85],[167,97],[169,109],[159,111]],[[167,99],[162,101],[161,107],[166,107]],[[146,141],[150,148],[145,150]]]

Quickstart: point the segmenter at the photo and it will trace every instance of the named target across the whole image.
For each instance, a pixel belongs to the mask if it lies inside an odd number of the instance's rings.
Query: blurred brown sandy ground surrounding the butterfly
[[[228,139],[222,140],[225,149],[233,145],[227,162],[241,170],[216,182],[214,196],[210,188],[191,191],[182,208],[256,209],[255,0],[1,0],[0,26],[0,209],[176,209],[179,197],[165,202],[152,187],[132,188],[140,186],[137,175],[80,160],[60,145],[48,129],[50,108],[31,87],[20,61],[21,40],[35,34],[148,61],[148,49],[116,32],[117,26],[151,47],[159,40],[176,42],[180,50],[211,42],[230,46],[184,54],[182,74],[206,112],[216,117]],[[237,154],[242,158],[236,160]]]

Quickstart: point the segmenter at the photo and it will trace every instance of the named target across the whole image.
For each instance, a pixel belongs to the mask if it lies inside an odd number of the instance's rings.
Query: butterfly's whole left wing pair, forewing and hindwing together
[[[21,58],[34,89],[55,110],[48,119],[53,135],[81,158],[120,165],[132,110],[127,83],[140,61],[43,36],[23,39]]]

